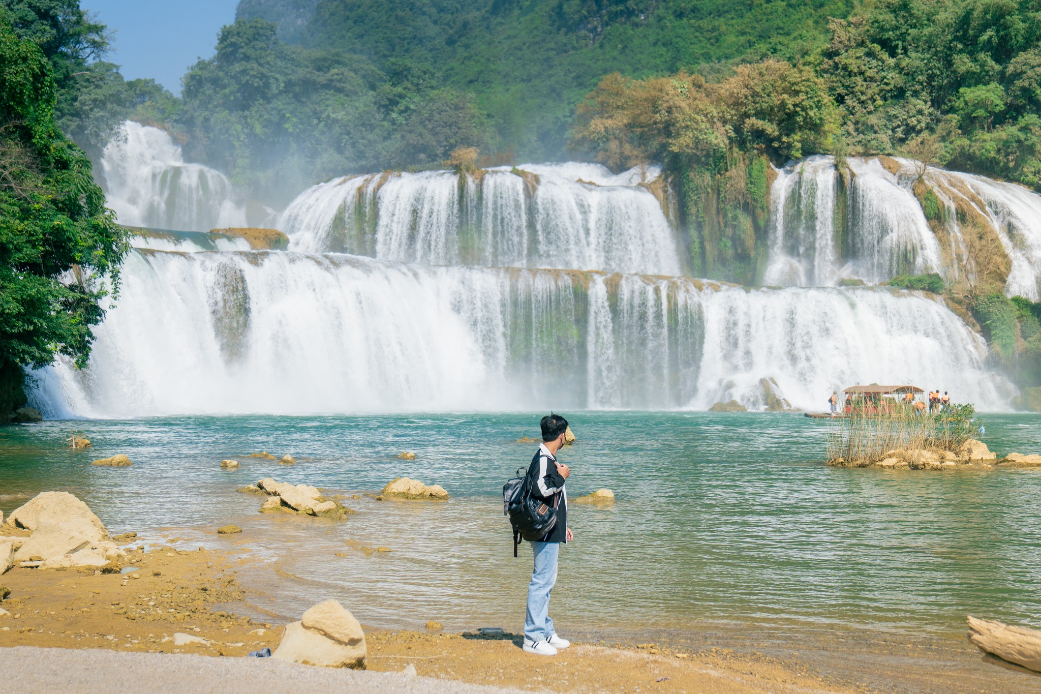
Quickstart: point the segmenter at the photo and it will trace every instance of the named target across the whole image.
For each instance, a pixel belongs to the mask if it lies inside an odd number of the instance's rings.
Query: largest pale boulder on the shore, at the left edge
[[[6,523],[28,537],[0,537],[0,573],[15,565],[46,569],[120,570],[126,552],[90,507],[65,491],[45,491],[15,509]]]

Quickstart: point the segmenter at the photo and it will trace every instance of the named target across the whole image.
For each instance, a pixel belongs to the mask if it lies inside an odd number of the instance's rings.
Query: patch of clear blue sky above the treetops
[[[80,0],[111,31],[107,60],[127,79],[151,77],[174,94],[200,57],[213,55],[217,34],[235,21],[237,0]]]

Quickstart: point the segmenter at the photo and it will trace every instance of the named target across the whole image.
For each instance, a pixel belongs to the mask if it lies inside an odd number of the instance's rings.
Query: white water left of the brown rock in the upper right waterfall
[[[838,206],[841,181],[833,157],[809,157],[778,172],[763,284],[835,286],[843,278],[884,283],[900,273],[947,276],[940,245],[911,191],[913,178],[890,173],[877,158],[849,158],[847,165],[845,211]]]

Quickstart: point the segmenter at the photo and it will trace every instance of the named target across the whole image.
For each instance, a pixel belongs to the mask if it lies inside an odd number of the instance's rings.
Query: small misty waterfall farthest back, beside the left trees
[[[185,163],[181,148],[158,128],[124,122],[105,146],[101,169],[120,224],[177,231],[247,226],[231,182]]]

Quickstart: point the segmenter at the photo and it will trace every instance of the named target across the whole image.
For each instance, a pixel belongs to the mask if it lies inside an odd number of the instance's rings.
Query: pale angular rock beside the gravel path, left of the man
[[[365,634],[336,600],[319,602],[299,622],[286,625],[273,658],[333,668],[365,667]]]

